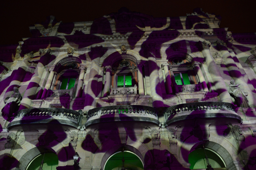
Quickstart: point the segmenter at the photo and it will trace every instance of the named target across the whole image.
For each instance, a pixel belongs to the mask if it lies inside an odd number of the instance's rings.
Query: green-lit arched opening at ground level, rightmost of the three
[[[209,159],[209,163],[212,168],[217,169],[217,170],[225,170],[225,162],[223,161],[222,157],[219,156],[215,151],[205,148],[204,149],[199,148],[196,149],[195,151],[192,151],[189,154],[189,164],[190,170],[197,170],[197,169],[206,169],[207,168],[207,160],[206,160],[206,155]]]

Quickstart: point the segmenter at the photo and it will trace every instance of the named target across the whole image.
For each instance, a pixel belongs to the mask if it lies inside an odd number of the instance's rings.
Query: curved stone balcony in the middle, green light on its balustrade
[[[141,125],[142,122],[159,125],[155,108],[141,105],[98,107],[89,110],[87,118],[86,127],[104,122],[121,122],[121,124],[127,122],[130,124],[131,121],[137,121],[138,125]]]

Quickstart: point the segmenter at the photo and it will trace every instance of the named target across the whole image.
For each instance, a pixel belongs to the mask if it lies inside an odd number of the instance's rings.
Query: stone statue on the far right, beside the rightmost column
[[[238,107],[249,107],[248,99],[246,98],[248,93],[242,91],[242,89],[238,87],[239,85],[240,84],[235,84],[235,80],[231,80],[229,84],[229,94]]]

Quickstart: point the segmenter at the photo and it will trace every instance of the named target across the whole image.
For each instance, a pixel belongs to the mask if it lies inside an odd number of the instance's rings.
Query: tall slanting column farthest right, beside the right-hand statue
[[[217,42],[217,47],[221,51],[223,60],[226,63],[226,67],[229,70],[230,76],[235,80],[236,84],[240,84],[239,88],[241,88],[243,91],[248,92],[248,102],[250,107],[254,107],[256,105],[256,100],[247,84],[247,82],[244,80],[243,75],[241,74],[239,68],[236,66],[236,63],[233,59],[233,57],[230,55],[228,48],[225,46],[225,44],[220,44],[221,42]]]

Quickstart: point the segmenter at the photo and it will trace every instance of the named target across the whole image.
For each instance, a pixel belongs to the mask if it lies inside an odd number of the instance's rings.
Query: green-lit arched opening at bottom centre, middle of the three
[[[143,163],[140,157],[131,151],[114,153],[108,158],[104,170],[121,170],[123,165],[126,170],[143,170]]]

